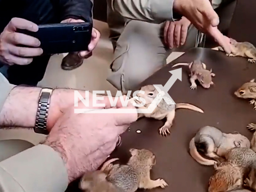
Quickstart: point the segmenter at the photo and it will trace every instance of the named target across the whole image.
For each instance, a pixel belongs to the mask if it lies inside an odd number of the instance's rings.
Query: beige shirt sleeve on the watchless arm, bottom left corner
[[[60,155],[37,145],[0,162],[1,192],[64,192],[68,174]]]

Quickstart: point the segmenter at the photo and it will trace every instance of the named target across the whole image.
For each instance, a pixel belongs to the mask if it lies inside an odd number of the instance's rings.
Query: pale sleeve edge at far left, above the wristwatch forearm
[[[2,110],[5,100],[14,86],[15,85],[10,84],[5,76],[0,73],[0,111]]]

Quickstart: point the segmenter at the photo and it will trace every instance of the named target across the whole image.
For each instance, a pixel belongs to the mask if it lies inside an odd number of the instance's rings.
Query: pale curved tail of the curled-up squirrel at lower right
[[[202,165],[214,165],[215,161],[214,160],[209,160],[206,158],[203,158],[197,151],[196,145],[195,145],[195,138],[192,138],[192,140],[189,143],[189,150],[190,150],[190,155],[200,164]]]

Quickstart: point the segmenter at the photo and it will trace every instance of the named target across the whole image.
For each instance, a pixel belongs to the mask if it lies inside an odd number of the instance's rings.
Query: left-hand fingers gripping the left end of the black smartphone
[[[27,65],[33,57],[40,56],[43,50],[39,48],[40,41],[37,38],[18,33],[17,29],[37,32],[38,26],[22,18],[12,18],[0,34],[0,59],[9,65]]]

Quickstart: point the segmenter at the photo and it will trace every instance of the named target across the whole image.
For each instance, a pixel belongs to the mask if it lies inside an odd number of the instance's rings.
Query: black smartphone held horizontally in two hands
[[[58,54],[88,50],[92,37],[92,23],[58,23],[38,25],[37,32],[18,29],[40,40],[43,54]]]

